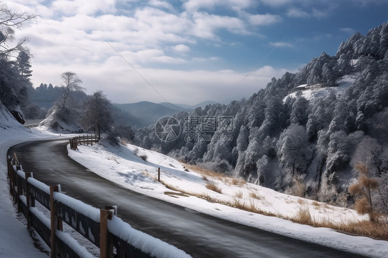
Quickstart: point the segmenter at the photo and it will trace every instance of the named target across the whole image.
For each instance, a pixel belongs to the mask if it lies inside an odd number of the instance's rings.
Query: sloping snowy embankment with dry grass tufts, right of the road
[[[220,203],[229,204],[237,201],[240,204],[259,207],[261,210],[282,217],[293,217],[300,210],[309,210],[315,221],[345,222],[367,219],[365,216],[358,215],[355,210],[284,195],[253,183],[242,183],[242,181],[232,178],[204,176],[187,170],[182,163],[171,157],[136,146],[128,145],[114,148],[108,143],[101,142],[96,146],[79,146],[78,148],[79,150],[74,151],[68,147],[69,156],[72,159],[97,175],[135,192],[303,241],[369,257],[388,257],[387,241],[345,235],[329,228],[313,228],[295,224],[278,217],[266,217],[231,206],[209,202],[200,197],[210,197],[217,199]],[[146,156],[146,161],[141,159],[141,156]],[[161,170],[161,181],[168,184],[169,187],[182,189],[192,195],[187,196],[180,192],[171,191],[155,180],[158,167]],[[206,188],[209,181],[220,188],[221,193]]]

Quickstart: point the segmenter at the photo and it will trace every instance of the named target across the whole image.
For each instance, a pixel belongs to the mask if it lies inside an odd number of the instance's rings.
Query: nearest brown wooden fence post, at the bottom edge
[[[113,257],[113,246],[109,243],[108,219],[112,219],[113,212],[111,212],[110,210],[100,210],[99,215],[99,257],[111,258]]]

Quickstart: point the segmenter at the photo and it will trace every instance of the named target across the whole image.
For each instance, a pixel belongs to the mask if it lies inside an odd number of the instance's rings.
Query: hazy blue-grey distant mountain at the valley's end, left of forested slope
[[[166,103],[166,105],[164,105],[149,101],[126,104],[113,103],[113,106],[127,112],[130,117],[132,117],[130,126],[133,128],[150,126],[161,117],[172,116],[177,112],[185,110],[184,108],[173,104],[169,105]]]

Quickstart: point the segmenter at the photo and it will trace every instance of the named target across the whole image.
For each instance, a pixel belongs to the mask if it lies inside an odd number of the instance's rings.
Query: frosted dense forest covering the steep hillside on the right
[[[344,80],[349,86],[337,90]],[[311,98],[308,90],[321,94]],[[342,205],[353,204],[348,188],[362,162],[378,179],[375,199],[387,212],[387,107],[388,22],[365,36],[353,34],[333,57],[322,52],[300,71],[271,79],[249,99],[177,113],[181,130],[171,141],[155,126],[137,130],[135,141],[187,163]],[[204,121],[213,123],[206,137],[212,124]]]

